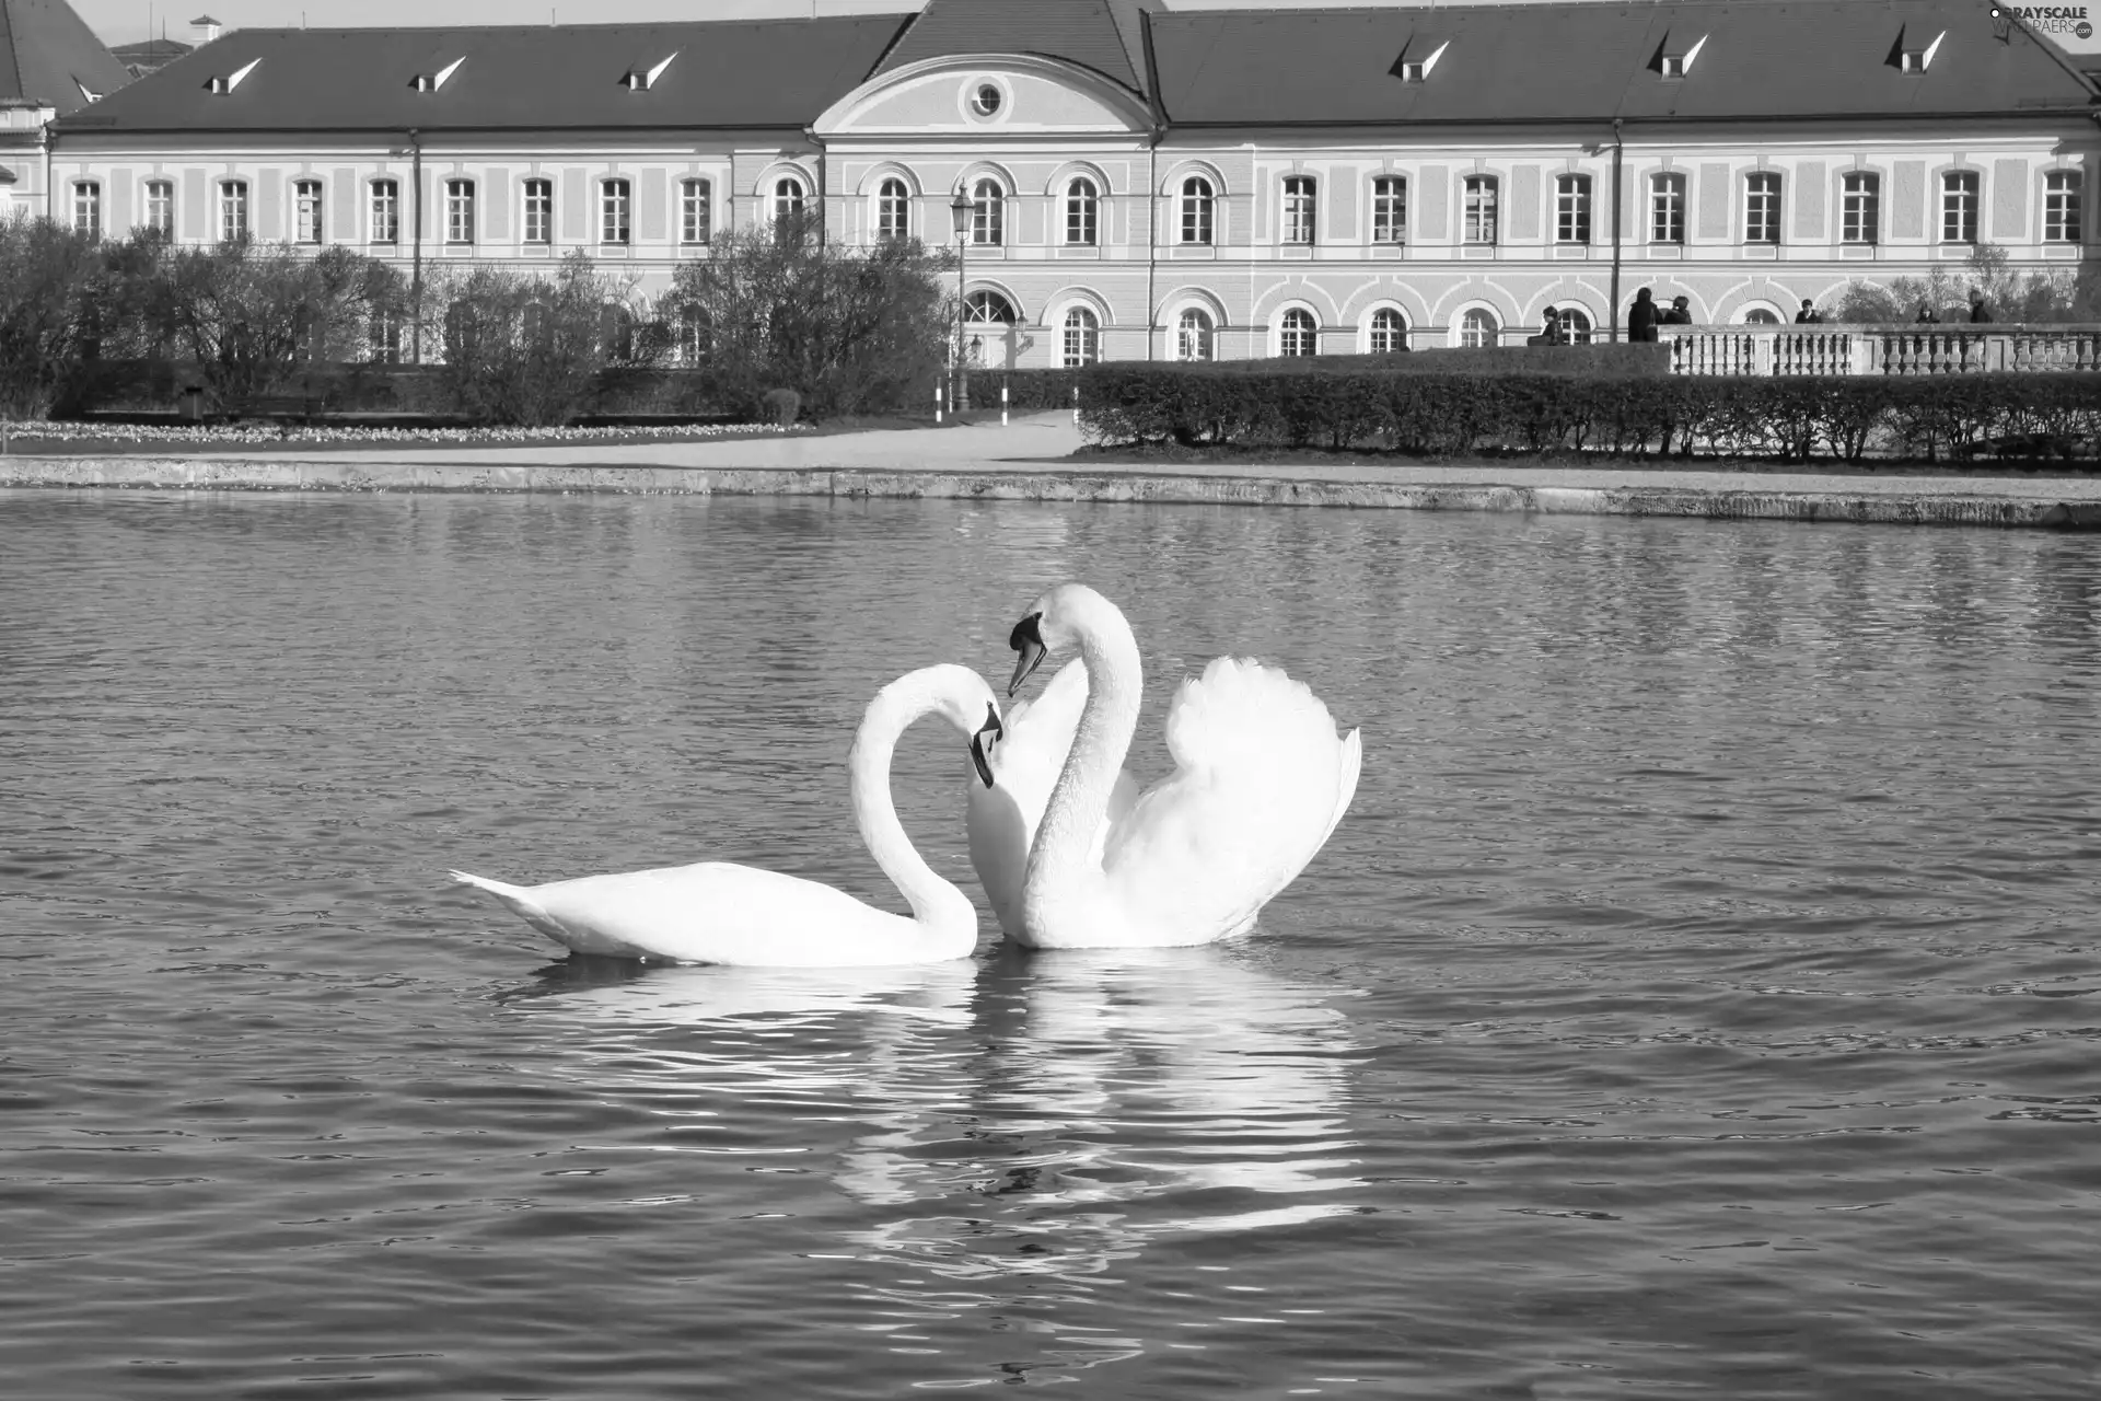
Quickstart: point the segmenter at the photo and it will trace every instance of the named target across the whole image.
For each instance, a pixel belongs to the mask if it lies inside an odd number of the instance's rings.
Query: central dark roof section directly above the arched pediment
[[[1153,0],[927,0],[880,69],[954,55],[1019,53],[1090,67],[1145,92],[1139,11]]]

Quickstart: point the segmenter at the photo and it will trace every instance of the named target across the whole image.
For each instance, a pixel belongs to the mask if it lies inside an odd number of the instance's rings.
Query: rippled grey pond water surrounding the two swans
[[[845,752],[1120,599],[1364,727],[1235,945],[555,960],[891,903]],[[2090,1397],[2101,542],[0,494],[0,1376],[44,1397]],[[897,794],[973,895],[950,731]]]

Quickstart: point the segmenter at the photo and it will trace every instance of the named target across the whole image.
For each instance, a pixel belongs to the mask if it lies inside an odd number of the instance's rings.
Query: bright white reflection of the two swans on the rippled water
[[[824,1155],[815,1170],[864,1208],[843,1222],[849,1254],[1042,1283],[1099,1275],[1158,1237],[1357,1210],[1357,1054],[1334,1006],[1353,994],[1273,973],[1256,949],[821,970],[576,962],[511,1004],[571,1023],[571,1044],[582,1031],[571,1069],[595,1088],[672,1115],[729,1117],[729,1096],[821,1103],[767,1132]]]

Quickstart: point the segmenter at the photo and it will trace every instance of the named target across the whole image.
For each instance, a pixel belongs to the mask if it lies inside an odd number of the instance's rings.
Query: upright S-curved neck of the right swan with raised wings
[[[1122,611],[1107,599],[1076,599],[1065,626],[1080,641],[1086,706],[1044,807],[1036,846],[1029,849],[1023,899],[1032,891],[1072,888],[1082,878],[1093,861],[1095,834],[1109,815],[1109,796],[1124,769],[1124,754],[1130,752],[1130,735],[1139,729],[1145,674],[1139,641]]]

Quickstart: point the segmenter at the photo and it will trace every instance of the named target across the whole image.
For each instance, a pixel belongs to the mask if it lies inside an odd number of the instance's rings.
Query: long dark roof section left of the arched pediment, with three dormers
[[[74,118],[69,130],[800,128],[868,78],[906,15],[237,29]],[[630,69],[679,55],[643,92]],[[464,59],[435,92],[418,74]],[[212,78],[256,63],[231,92]]]

